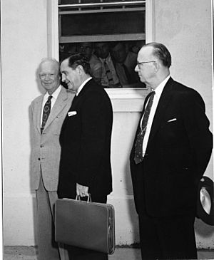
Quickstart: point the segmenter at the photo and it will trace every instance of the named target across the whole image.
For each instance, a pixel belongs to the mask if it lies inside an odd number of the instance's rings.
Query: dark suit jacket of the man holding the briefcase
[[[76,197],[76,183],[89,187],[92,197],[112,191],[111,100],[93,79],[74,98],[61,128],[58,196]]]

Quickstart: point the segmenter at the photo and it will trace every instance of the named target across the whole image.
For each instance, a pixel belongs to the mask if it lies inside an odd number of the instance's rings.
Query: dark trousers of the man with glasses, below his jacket
[[[197,259],[193,216],[139,215],[142,259]]]

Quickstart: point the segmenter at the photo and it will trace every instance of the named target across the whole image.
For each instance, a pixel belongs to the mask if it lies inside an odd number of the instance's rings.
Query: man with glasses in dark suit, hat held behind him
[[[203,99],[170,78],[170,65],[161,43],[148,43],[138,53],[138,76],[153,89],[130,158],[142,259],[197,259],[197,189],[213,136]]]

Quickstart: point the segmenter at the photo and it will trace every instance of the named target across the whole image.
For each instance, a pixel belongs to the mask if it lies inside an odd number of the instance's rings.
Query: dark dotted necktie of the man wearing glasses
[[[140,129],[138,130],[138,135],[136,139],[136,150],[135,150],[135,157],[134,160],[136,162],[136,165],[143,160],[143,138],[146,133],[146,127],[148,123],[148,116],[151,111],[151,106],[153,105],[153,98],[154,98],[155,92],[152,91],[148,100],[148,104],[146,105],[146,109],[143,114],[143,122],[142,125],[140,125]]]

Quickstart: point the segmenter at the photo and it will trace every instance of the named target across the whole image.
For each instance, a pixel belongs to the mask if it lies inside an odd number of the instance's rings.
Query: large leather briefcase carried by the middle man
[[[113,205],[77,199],[57,199],[55,240],[83,249],[113,254],[115,249]]]

